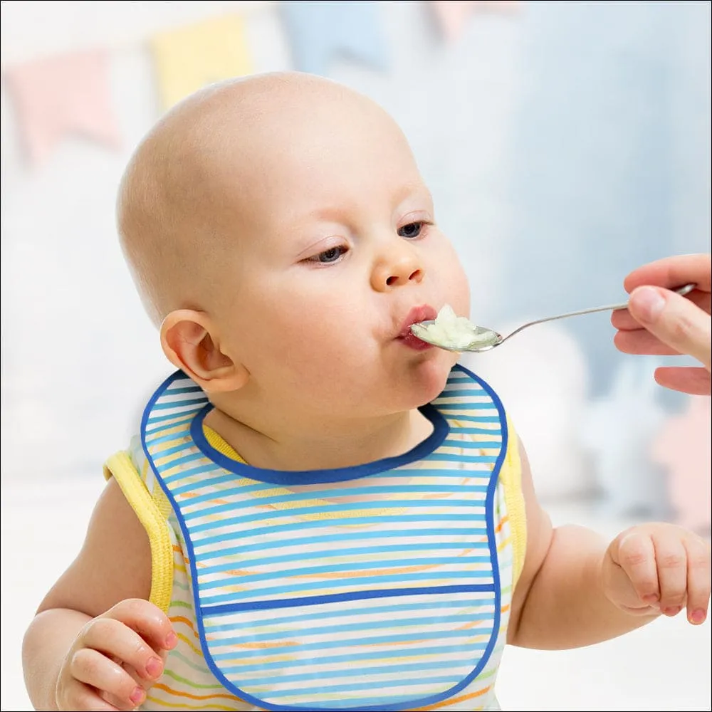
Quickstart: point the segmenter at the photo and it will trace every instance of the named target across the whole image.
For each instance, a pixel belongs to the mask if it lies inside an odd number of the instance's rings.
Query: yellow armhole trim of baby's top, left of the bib
[[[119,484],[126,501],[146,530],[151,545],[150,602],[168,612],[173,591],[173,545],[169,524],[145,482],[125,452],[112,455],[104,466],[104,476]]]

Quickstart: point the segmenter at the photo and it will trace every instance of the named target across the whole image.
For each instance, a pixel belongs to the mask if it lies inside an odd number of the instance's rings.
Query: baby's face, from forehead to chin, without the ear
[[[377,112],[328,125],[273,135],[241,184],[249,211],[211,314],[221,350],[282,407],[400,412],[433,399],[456,359],[409,325],[446,303],[467,315],[466,277],[397,127]]]

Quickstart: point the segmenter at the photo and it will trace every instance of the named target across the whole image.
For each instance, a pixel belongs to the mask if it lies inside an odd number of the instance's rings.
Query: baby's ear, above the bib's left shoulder
[[[161,345],[168,360],[205,392],[236,391],[249,377],[246,368],[221,352],[204,312],[179,309],[161,325]]]

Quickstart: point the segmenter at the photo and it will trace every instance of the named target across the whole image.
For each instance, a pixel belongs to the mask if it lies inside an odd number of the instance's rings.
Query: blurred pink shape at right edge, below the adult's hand
[[[695,530],[710,527],[711,411],[706,396],[690,398],[687,411],[671,417],[653,446],[654,461],[669,475],[669,492],[679,523]]]

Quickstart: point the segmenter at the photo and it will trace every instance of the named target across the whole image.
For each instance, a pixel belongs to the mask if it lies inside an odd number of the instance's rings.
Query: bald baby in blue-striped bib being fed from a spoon
[[[497,395],[412,335],[468,286],[370,100],[202,90],[132,157],[118,224],[177,372],[26,633],[37,708],[491,709],[507,642],[703,622],[701,538],[553,528]]]

